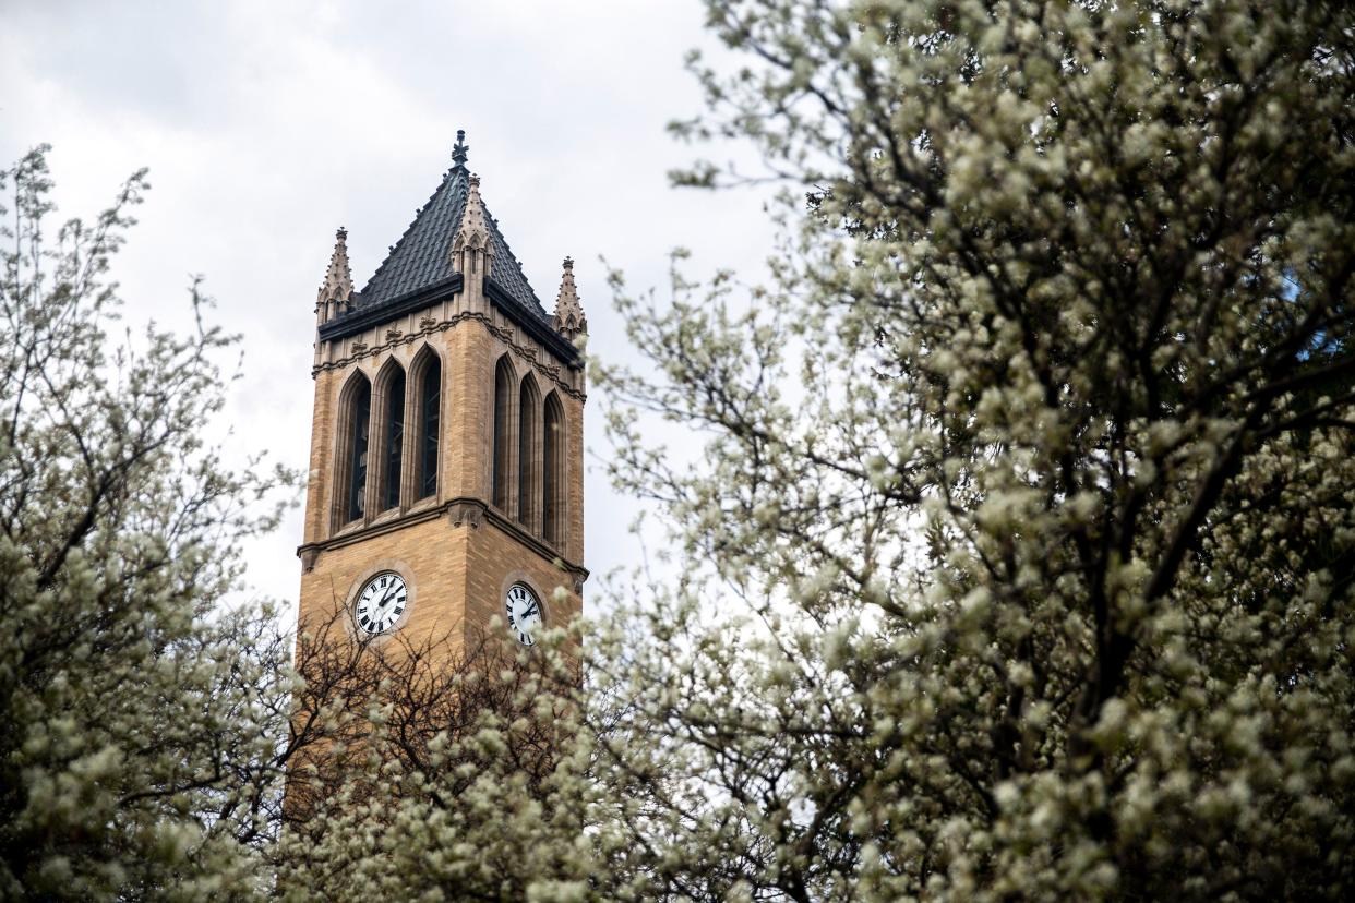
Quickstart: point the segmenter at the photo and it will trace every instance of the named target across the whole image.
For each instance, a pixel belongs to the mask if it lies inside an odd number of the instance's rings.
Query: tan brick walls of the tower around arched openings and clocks
[[[335,428],[339,394],[350,375],[360,370],[373,383],[392,359],[408,371],[415,356],[431,345],[442,359],[442,447],[435,498],[373,513],[360,524],[335,531],[333,470],[339,451]],[[453,631],[482,628],[503,620],[503,593],[512,579],[528,582],[546,607],[547,623],[566,623],[581,609],[575,592],[583,566],[583,375],[524,337],[480,298],[458,296],[428,311],[408,314],[363,336],[322,343],[316,371],[312,420],[310,475],[306,493],[302,623],[328,617],[351,604],[364,577],[390,567],[411,586],[412,597],[398,632],[419,643]],[[473,504],[491,506],[493,448],[493,374],[500,355],[509,353],[519,375],[533,372],[542,395],[557,389],[565,413],[566,523],[560,548],[520,528],[500,523]],[[412,384],[406,393],[413,391]],[[409,409],[412,410],[412,408]],[[377,422],[377,406],[373,422]],[[379,444],[373,443],[373,448]],[[413,455],[405,452],[405,466]],[[369,474],[377,462],[373,460]],[[369,483],[374,479],[369,481]],[[406,493],[409,495],[411,493]],[[371,494],[369,494],[371,498]],[[373,505],[371,508],[375,508]],[[557,558],[568,562],[561,569]],[[569,598],[556,602],[553,590],[565,586]],[[504,628],[507,636],[507,628]]]

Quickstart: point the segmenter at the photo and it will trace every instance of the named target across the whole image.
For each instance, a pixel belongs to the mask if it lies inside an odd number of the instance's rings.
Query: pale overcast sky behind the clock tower
[[[695,0],[0,1],[0,157],[50,142],[61,215],[92,215],[138,167],[153,190],[115,263],[133,322],[186,324],[190,273],[243,336],[234,458],[304,467],[313,303],[348,227],[362,286],[436,188],[457,129],[485,203],[547,309],[573,256],[591,349],[629,360],[598,257],[663,286],[667,253],[757,269],[752,194],[678,191],[698,152],[664,125],[701,110],[683,56]],[[587,556],[634,562],[631,501],[607,486],[599,393],[585,412]],[[248,578],[295,601],[301,517],[251,546]],[[596,588],[596,582],[591,586]]]

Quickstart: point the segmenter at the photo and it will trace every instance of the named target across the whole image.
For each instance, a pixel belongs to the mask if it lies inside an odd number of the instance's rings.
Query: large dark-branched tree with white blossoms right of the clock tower
[[[1355,12],[707,9],[747,65],[678,131],[801,195],[768,286],[623,296],[659,376],[600,374],[686,563],[589,646],[610,873],[1347,896]]]

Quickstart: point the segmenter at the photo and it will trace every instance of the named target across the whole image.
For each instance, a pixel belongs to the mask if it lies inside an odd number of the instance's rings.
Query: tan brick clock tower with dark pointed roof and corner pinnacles
[[[565,259],[547,314],[453,165],[362,291],[340,229],[316,302],[299,623],[509,644],[580,612],[587,320]]]

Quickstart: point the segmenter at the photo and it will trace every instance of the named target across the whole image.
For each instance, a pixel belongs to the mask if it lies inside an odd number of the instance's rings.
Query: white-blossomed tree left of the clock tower
[[[0,173],[0,896],[263,889],[291,643],[226,605],[287,474],[232,474],[202,325],[115,347],[107,282],[144,173],[54,240],[45,148]],[[195,309],[201,307],[196,287]]]

